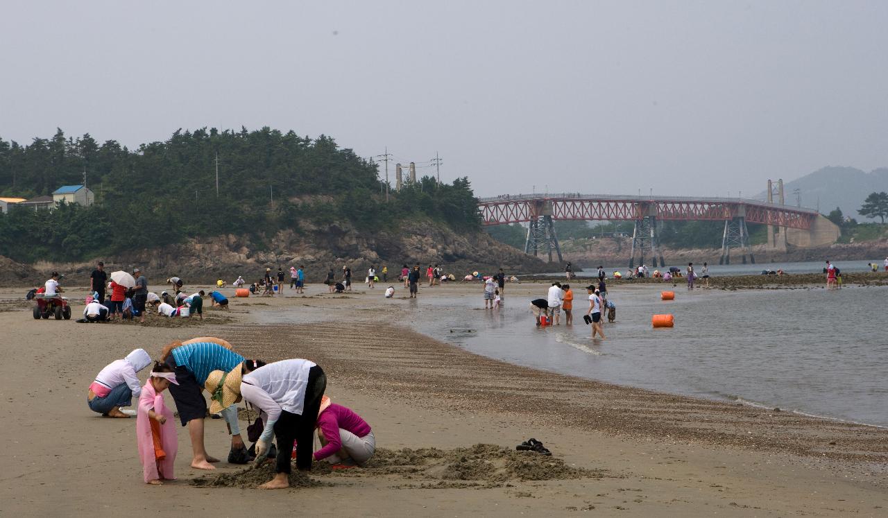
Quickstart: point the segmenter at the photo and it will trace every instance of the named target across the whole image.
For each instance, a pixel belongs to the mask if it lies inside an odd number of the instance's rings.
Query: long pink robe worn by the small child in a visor
[[[158,461],[155,459],[155,441],[151,435],[151,418],[148,417],[148,411],[154,409],[158,415],[167,418],[161,428],[161,446],[163,447],[166,457]],[[160,424],[160,423],[158,423]],[[158,478],[172,480],[176,478],[173,475],[173,462],[176,460],[176,451],[178,451],[178,438],[176,437],[176,425],[173,424],[172,411],[163,404],[163,395],[157,394],[155,388],[151,385],[151,378],[142,387],[142,394],[139,396],[139,415],[136,418],[136,442],[139,444],[139,459],[142,461],[144,468],[145,482]],[[160,469],[158,470],[158,467]]]

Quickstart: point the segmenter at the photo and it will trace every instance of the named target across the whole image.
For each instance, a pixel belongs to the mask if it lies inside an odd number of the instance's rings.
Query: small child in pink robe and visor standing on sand
[[[151,376],[142,387],[139,396],[139,415],[136,418],[136,442],[139,444],[139,458],[142,460],[145,482],[162,484],[173,480],[173,462],[178,451],[176,426],[172,411],[163,404],[163,391],[175,383],[176,374],[170,367],[155,363]]]

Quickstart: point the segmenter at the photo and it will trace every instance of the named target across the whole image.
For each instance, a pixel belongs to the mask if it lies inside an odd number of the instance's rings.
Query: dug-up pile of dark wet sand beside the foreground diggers
[[[365,467],[334,471],[325,462],[314,463],[310,474],[320,480],[296,473],[295,466],[293,471],[290,485],[296,488],[329,483],[337,477],[384,478],[395,481],[393,487],[408,489],[499,487],[518,481],[600,478],[604,475],[602,471],[568,466],[563,459],[533,451],[515,451],[495,444],[475,444],[454,450],[381,448]],[[192,484],[201,487],[252,488],[271,480],[272,475],[274,467],[266,465],[233,474],[204,476],[195,479]]]

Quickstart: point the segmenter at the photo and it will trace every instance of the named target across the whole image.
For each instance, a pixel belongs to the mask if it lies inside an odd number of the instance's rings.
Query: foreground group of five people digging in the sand
[[[153,365],[142,384],[138,373]],[[156,360],[145,349],[106,365],[87,391],[91,411],[108,418],[129,418],[122,407],[139,397],[136,412],[136,443],[146,483],[161,484],[176,478],[174,460],[178,439],[173,412],[164,404],[169,388],[179,422],[191,438],[191,467],[215,469],[218,459],[204,445],[204,420],[208,415],[203,391],[210,397],[209,414],[226,420],[231,436],[228,462],[275,462],[274,478],[263,489],[289,487],[291,459],[308,470],[313,460],[325,460],[334,468],[361,466],[376,451],[373,430],[351,409],[325,396],[327,375],[311,360],[295,358],[268,363],[247,359],[232,345],[215,337],[172,341]],[[237,403],[258,409],[256,423],[248,427],[248,448],[241,435]],[[321,447],[313,451],[313,437]],[[272,444],[274,438],[275,444]]]

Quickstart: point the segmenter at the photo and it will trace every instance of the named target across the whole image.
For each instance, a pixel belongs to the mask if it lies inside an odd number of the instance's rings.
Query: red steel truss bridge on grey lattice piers
[[[548,251],[563,261],[552,220],[603,220],[632,221],[632,255],[630,266],[640,254],[644,263],[649,251],[654,267],[659,255],[657,221],[724,221],[722,259],[730,263],[731,248],[742,248],[742,261],[746,254],[755,263],[749,251],[747,223],[768,224],[785,228],[810,230],[818,212],[810,208],[789,207],[759,200],[741,198],[695,198],[682,196],[614,196],[599,194],[506,194],[494,198],[482,198],[478,207],[483,224],[528,223],[525,252],[537,255]]]

